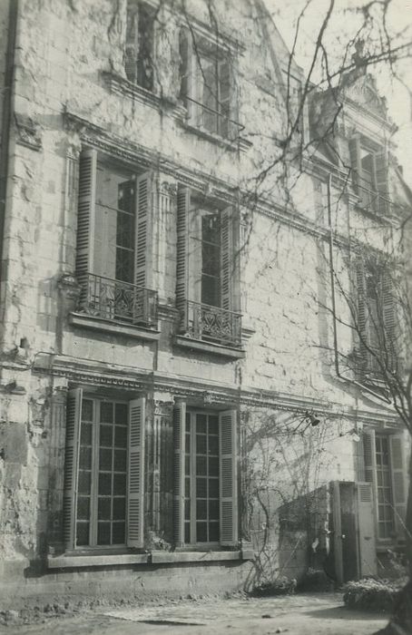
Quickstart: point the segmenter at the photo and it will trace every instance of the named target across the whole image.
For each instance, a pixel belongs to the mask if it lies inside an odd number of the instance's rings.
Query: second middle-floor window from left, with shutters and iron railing
[[[181,332],[240,346],[239,222],[234,207],[178,189],[177,287]]]

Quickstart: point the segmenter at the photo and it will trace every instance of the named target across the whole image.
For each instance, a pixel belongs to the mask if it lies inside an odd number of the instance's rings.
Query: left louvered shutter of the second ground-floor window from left
[[[184,464],[185,464],[186,404],[181,402],[173,409],[173,538],[174,546],[184,543]]]

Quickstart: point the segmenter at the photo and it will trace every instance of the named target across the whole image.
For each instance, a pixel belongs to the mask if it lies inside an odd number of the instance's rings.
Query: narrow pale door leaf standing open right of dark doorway
[[[375,505],[370,483],[358,483],[358,552],[359,577],[377,575]]]

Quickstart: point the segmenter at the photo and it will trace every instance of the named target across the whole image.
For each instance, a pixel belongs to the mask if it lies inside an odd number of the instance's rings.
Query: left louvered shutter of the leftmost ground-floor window
[[[63,496],[63,531],[66,549],[75,547],[82,397],[82,388],[69,390],[67,395]]]

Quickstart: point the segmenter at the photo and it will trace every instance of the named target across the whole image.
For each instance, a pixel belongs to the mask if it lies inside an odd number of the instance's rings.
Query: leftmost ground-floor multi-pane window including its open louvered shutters
[[[144,399],[69,392],[64,540],[68,549],[142,546]]]

